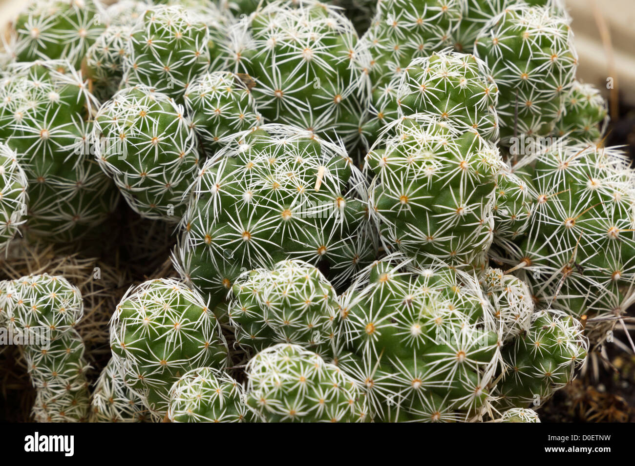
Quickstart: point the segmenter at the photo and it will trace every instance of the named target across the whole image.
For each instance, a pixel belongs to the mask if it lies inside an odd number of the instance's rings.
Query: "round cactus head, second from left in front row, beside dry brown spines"
[[[110,320],[113,364],[153,417],[192,368],[227,365],[227,343],[206,302],[171,278],[131,287]]]

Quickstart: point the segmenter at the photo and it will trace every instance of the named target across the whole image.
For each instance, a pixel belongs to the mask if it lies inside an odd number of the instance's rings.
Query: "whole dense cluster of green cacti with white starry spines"
[[[539,422],[635,301],[635,171],[570,23],[560,0],[33,0],[0,55],[0,253],[83,256],[130,216],[173,247],[122,269],[110,359],[63,276],[0,277],[0,326],[48,334],[19,351],[34,418]],[[112,236],[119,264],[140,238]]]

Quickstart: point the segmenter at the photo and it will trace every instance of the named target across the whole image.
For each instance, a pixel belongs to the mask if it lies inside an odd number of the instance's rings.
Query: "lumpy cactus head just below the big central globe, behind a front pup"
[[[241,274],[232,286],[228,313],[236,341],[247,351],[291,343],[324,359],[333,357],[340,321],[337,294],[311,264],[288,260]]]

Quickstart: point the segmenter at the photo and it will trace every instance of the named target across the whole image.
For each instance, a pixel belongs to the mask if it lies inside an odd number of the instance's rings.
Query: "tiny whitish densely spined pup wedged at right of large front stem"
[[[481,284],[494,308],[503,342],[528,330],[534,304],[531,292],[523,280],[504,274],[500,269],[488,268]]]

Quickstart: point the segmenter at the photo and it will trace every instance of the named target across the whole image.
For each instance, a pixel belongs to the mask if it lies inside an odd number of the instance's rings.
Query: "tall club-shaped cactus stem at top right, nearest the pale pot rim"
[[[501,142],[548,136],[573,86],[578,57],[566,16],[547,7],[511,6],[481,29],[476,56],[498,85]]]

